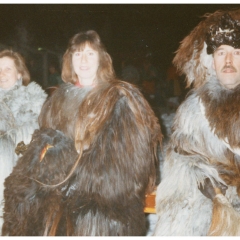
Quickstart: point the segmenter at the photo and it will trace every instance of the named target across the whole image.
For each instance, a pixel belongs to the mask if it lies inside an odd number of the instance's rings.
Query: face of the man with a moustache
[[[240,84],[240,49],[221,45],[213,54],[213,69],[224,87],[235,88]]]

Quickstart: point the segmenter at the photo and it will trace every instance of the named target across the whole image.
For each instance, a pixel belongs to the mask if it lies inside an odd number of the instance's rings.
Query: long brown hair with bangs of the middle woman
[[[115,79],[112,59],[101,42],[99,35],[89,30],[75,34],[69,41],[68,48],[63,55],[62,79],[64,82],[76,83],[78,77],[73,70],[72,54],[88,44],[99,54],[97,82],[110,82]]]

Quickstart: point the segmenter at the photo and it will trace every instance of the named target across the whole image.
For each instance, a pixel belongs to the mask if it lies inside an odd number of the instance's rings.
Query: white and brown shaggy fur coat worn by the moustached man
[[[154,235],[239,234],[240,85],[222,87],[214,77],[192,91],[179,107],[157,188]],[[214,201],[199,190],[204,180],[227,185]],[[214,202],[225,215],[213,214]],[[215,207],[217,207],[215,204]],[[217,209],[214,207],[214,213]],[[235,222],[227,214],[236,215]],[[213,217],[213,215],[216,217]],[[210,226],[218,225],[209,231]],[[219,228],[219,226],[221,226]]]

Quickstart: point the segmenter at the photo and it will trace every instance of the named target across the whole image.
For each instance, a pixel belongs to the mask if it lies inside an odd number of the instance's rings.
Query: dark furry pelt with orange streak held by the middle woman
[[[54,232],[59,213],[63,207],[67,210],[64,200],[71,188],[68,182],[58,187],[46,185],[61,182],[77,157],[74,142],[62,132],[35,130],[26,152],[5,180],[3,235]],[[68,215],[64,213],[64,217]]]

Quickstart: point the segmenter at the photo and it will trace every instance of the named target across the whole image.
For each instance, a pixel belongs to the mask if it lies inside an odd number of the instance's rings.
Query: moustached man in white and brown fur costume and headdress
[[[193,89],[174,119],[154,235],[240,235],[240,10],[206,14],[173,63]]]

